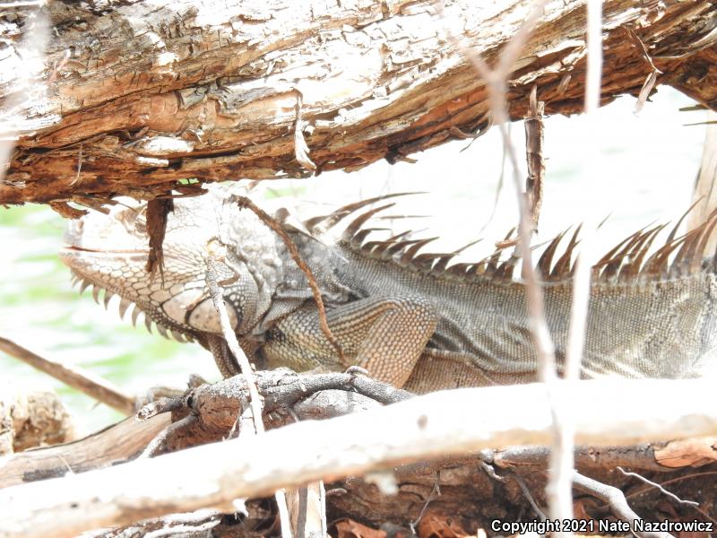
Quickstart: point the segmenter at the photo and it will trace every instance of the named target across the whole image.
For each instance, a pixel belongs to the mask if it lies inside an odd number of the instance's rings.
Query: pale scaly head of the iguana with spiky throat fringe
[[[160,332],[176,337],[220,334],[205,282],[208,250],[226,250],[218,265],[229,316],[238,334],[251,330],[269,307],[281,282],[281,258],[272,231],[248,210],[240,210],[228,187],[211,186],[205,195],[175,200],[163,243],[163,271],[149,273],[147,204],[121,198],[108,214],[91,212],[73,221],[60,256],[82,289],[93,285],[95,299],[105,290],[122,298],[120,313],[134,305]],[[149,327],[149,319],[146,320]]]

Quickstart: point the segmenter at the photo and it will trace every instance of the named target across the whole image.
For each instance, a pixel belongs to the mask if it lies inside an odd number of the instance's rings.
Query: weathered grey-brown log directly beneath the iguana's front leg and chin
[[[296,418],[321,420],[363,411],[376,407],[378,402],[398,401],[396,395],[408,395],[392,386],[350,374],[296,376],[286,372],[259,372],[258,375],[264,412],[271,427],[291,423]],[[347,394],[346,390],[357,392]],[[373,397],[358,394],[361,392]],[[182,421],[189,411],[195,413],[197,421],[164,436],[157,453],[219,441],[228,437],[238,414],[247,406],[244,377],[201,386],[183,397],[146,405],[138,413],[140,421],[130,418],[74,443],[15,454],[0,466],[0,488],[133,460],[170,424]],[[291,414],[287,412],[289,408],[293,410]]]

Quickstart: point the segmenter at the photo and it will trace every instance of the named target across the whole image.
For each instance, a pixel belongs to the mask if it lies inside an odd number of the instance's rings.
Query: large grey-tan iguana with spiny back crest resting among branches
[[[168,215],[163,280],[145,270],[146,211],[115,206],[75,221],[62,257],[83,289],[106,291],[134,306],[177,339],[212,350],[224,376],[237,372],[205,282],[206,247],[226,247],[220,264],[232,323],[259,368],[342,370],[320,329],[307,278],[287,248],[254,213],[240,210],[225,187],[177,199]],[[315,274],[328,324],[351,364],[415,392],[455,386],[526,382],[538,363],[531,342],[523,283],[516,260],[490,256],[448,266],[451,255],[420,253],[428,239],[406,234],[367,241],[366,222],[386,205],[360,202],[305,222],[312,234],[351,216],[342,239],[324,242],[287,226]],[[363,213],[361,213],[363,212]],[[358,216],[357,216],[358,215]],[[704,244],[717,218],[648,255],[664,227],[636,232],[593,268],[583,376],[694,377],[717,353],[717,277]],[[545,311],[564,357],[575,237],[554,261],[562,236],[540,257]]]

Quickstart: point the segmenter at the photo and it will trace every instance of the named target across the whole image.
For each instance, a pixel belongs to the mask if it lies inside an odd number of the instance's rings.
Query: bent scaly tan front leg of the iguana
[[[414,296],[358,299],[330,308],[326,321],[349,360],[342,364],[321,330],[316,308],[307,305],[266,334],[262,354],[270,368],[341,371],[355,365],[401,387],[436,330],[437,320],[433,305]]]

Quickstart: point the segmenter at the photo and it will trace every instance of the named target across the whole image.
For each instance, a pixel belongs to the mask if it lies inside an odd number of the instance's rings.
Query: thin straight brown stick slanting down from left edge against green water
[[[118,412],[129,416],[136,411],[134,398],[130,395],[125,395],[121,389],[112,385],[107,379],[76,366],[67,366],[61,362],[40,357],[37,353],[33,353],[23,348],[22,345],[2,336],[0,336],[0,350],[15,359],[30,364],[32,368],[45,372],[48,376],[55,377],[65,385],[76,388],[98,402],[116,409]]]

